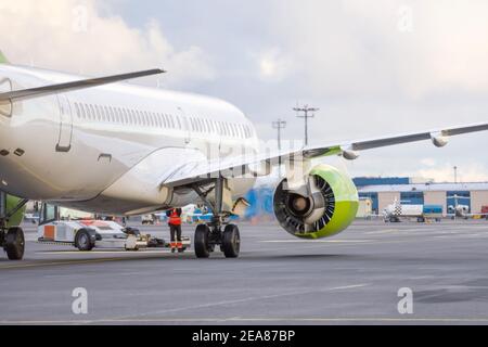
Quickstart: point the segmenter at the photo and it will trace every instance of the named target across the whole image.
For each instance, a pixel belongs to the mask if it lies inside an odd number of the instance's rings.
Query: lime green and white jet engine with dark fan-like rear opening
[[[292,235],[329,237],[350,226],[358,211],[358,191],[352,180],[329,165],[309,174],[308,187],[286,190],[286,179],[274,192],[274,215]],[[308,192],[304,194],[304,192]]]

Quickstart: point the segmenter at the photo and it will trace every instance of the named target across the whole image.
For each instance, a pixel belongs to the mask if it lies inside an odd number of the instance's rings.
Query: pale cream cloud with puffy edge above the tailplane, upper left
[[[0,31],[0,49],[17,64],[88,75],[163,67],[171,87],[215,78],[197,46],[178,51],[156,21],[130,27],[95,0],[3,0]]]

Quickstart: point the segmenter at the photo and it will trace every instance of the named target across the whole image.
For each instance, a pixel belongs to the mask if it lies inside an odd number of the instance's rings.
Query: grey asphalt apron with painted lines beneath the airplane
[[[274,222],[240,229],[240,258],[196,259],[193,249],[38,244],[25,224],[25,259],[0,255],[0,324],[488,323],[488,221],[358,220],[317,241]],[[86,313],[76,288],[86,290]]]

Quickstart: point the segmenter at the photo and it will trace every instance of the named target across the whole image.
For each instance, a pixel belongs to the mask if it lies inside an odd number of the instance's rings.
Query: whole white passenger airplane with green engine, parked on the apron
[[[333,236],[355,219],[358,192],[347,174],[312,159],[354,160],[361,151],[423,140],[442,147],[452,136],[488,130],[484,123],[260,150],[253,123],[228,102],[124,83],[163,69],[87,78],[10,64],[1,53],[0,63],[0,246],[11,260],[24,255],[28,200],[118,216],[203,203],[214,217],[195,229],[195,256],[219,246],[236,258],[240,230],[229,217],[245,210],[245,193],[279,163],[280,226],[299,239]],[[88,248],[95,239],[88,229],[75,241]]]

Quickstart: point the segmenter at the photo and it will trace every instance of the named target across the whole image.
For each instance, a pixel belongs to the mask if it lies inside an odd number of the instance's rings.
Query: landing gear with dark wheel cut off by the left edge
[[[9,227],[9,221],[26,203],[27,200],[20,200],[12,209],[7,210],[7,194],[0,192],[0,247],[7,252],[10,260],[21,260],[24,257],[24,231],[20,227]]]

